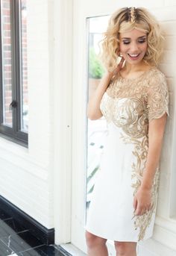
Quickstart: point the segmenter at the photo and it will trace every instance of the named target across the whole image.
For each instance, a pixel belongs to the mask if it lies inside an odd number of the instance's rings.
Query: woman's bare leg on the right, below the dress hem
[[[135,242],[119,242],[114,241],[117,256],[136,256]]]

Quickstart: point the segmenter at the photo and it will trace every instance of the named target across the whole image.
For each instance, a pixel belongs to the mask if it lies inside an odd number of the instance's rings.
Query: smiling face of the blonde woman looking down
[[[130,64],[139,64],[147,51],[147,34],[133,28],[120,33],[120,52]]]

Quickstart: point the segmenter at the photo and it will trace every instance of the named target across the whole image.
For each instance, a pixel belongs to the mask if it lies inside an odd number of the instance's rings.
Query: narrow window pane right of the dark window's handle
[[[27,61],[27,1],[20,1],[21,31],[21,130],[28,132],[28,61]]]

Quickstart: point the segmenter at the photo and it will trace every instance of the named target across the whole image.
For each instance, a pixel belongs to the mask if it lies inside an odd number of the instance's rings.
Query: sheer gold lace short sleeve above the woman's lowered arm
[[[157,72],[148,82],[148,122],[167,113],[169,116],[169,90],[166,77]]]

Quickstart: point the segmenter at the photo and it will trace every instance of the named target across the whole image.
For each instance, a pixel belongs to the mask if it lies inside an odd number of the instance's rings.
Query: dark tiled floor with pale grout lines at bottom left
[[[11,216],[0,211],[0,256],[66,256],[61,248],[46,246]]]

